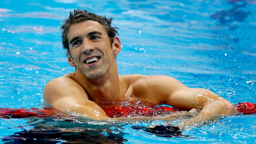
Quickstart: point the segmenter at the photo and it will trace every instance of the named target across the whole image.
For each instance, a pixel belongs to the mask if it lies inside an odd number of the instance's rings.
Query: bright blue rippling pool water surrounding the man
[[[117,56],[120,75],[168,75],[186,86],[210,89],[233,104],[256,102],[255,0],[1,0],[1,108],[42,108],[45,84],[74,72],[62,49],[59,26],[78,8],[114,17],[123,46]],[[46,134],[55,132],[52,138],[58,143],[65,142],[59,138],[63,135],[111,143],[256,143],[256,115],[229,116],[184,130],[191,138],[159,137],[131,128],[163,124],[160,120],[68,119],[0,119],[0,138],[23,132],[33,141],[35,130],[46,129]]]

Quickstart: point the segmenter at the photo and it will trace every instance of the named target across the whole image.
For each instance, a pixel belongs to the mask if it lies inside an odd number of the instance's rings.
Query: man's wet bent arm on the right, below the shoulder
[[[200,125],[221,118],[223,115],[237,113],[236,107],[229,101],[210,90],[202,88],[187,88],[184,86],[184,88],[170,96],[169,104],[187,110],[193,108],[200,110],[197,116],[181,121],[179,124],[181,127]]]

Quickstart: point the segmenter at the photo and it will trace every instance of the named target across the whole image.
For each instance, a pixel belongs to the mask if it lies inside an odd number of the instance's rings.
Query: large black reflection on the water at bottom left
[[[34,129],[15,132],[2,139],[6,144],[20,143],[123,143],[127,141],[122,133],[113,134],[100,129],[58,129],[37,126]]]

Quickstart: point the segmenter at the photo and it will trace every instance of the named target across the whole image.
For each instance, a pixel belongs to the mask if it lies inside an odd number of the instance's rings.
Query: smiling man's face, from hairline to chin
[[[69,65],[76,66],[87,78],[104,75],[115,60],[114,45],[110,44],[108,34],[96,21],[71,25],[67,37]]]

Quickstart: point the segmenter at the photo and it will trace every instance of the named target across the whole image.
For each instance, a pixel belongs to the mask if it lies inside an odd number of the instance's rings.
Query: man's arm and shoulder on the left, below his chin
[[[99,105],[88,99],[84,89],[69,77],[50,80],[45,85],[43,99],[62,112],[78,113],[92,119],[108,118]]]

